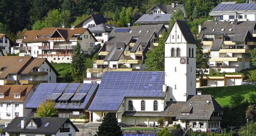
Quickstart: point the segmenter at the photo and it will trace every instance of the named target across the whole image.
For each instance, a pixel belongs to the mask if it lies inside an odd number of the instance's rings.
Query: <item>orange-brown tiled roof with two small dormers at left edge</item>
[[[0,93],[4,98],[0,101],[24,101],[30,91],[34,91],[33,85],[1,85]],[[14,94],[20,94],[20,98],[14,98]]]

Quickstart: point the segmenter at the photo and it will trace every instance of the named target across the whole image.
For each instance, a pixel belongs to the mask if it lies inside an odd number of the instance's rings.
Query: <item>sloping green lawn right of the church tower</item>
[[[241,85],[241,86],[223,86],[223,87],[207,87],[196,88],[196,91],[202,91],[202,94],[210,94],[215,100],[224,106],[229,104],[232,95],[242,94],[245,99],[249,98],[250,93],[256,93],[255,85]]]

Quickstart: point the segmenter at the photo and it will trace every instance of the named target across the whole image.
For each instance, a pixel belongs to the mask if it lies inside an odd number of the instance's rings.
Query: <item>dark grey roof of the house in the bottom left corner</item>
[[[20,120],[26,119],[26,125],[33,120],[38,128],[20,128]],[[49,122],[48,126],[44,126]],[[16,133],[43,133],[43,134],[55,134],[61,128],[64,123],[70,123],[76,132],[79,132],[78,128],[68,118],[36,118],[36,117],[15,117],[10,124],[3,130],[4,132],[16,132]]]

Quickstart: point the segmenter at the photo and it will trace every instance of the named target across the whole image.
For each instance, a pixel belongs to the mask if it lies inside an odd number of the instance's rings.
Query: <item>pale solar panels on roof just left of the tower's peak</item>
[[[166,22],[172,14],[144,14],[136,22]]]

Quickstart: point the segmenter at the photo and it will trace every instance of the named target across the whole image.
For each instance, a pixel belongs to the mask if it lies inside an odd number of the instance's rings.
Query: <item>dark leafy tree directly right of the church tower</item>
[[[196,77],[203,78],[204,70],[209,68],[210,54],[203,52],[203,43],[196,40]]]

